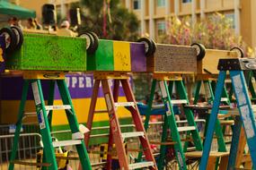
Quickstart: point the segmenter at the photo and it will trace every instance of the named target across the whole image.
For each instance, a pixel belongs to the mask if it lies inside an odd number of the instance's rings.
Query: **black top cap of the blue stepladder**
[[[219,71],[256,70],[256,58],[226,58],[220,59],[217,69]]]

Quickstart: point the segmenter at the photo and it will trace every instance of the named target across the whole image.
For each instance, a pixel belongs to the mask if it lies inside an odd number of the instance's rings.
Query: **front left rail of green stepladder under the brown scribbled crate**
[[[168,92],[167,83],[166,81],[160,81],[159,85],[162,93],[163,103],[165,105],[165,110],[166,110],[165,115],[168,119],[168,124],[170,125],[170,128],[171,128],[172,140],[176,142],[174,144],[175,155],[177,157],[177,161],[179,163],[180,169],[187,169],[186,159],[181,146],[180,133],[178,132],[177,124],[175,121],[175,116],[172,109],[173,107],[172,107],[171,97]]]

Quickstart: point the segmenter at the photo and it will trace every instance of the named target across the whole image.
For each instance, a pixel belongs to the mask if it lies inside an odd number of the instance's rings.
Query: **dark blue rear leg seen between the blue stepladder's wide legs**
[[[233,137],[232,137],[232,143],[231,143],[231,148],[230,148],[230,154],[229,154],[229,159],[228,159],[228,169],[235,169],[235,165],[237,165],[236,160],[239,162],[239,159],[242,159],[243,152],[240,153],[242,150],[240,150],[240,136],[241,136],[241,127],[242,127],[242,122],[240,120],[239,116],[235,116],[234,120],[234,131],[233,131]],[[244,136],[243,136],[244,137]],[[240,149],[239,149],[240,148]],[[240,166],[240,164],[239,164]],[[239,167],[238,166],[238,167]]]

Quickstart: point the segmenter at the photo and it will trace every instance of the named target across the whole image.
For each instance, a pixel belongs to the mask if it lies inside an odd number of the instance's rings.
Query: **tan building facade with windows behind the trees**
[[[16,0],[22,6],[37,11],[41,18],[42,4],[56,4],[57,13],[66,16],[68,8],[80,0]],[[223,13],[234,22],[234,30],[242,35],[245,42],[256,47],[256,1],[255,0],[121,0],[128,10],[137,14],[142,35],[148,33],[151,38],[166,31],[165,19],[169,16],[191,16],[199,21],[212,13]]]

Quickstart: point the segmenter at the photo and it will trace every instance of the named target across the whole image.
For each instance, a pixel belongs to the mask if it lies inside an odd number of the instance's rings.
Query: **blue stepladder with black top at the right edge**
[[[230,149],[230,157],[227,167],[224,169],[234,169],[237,149],[239,145],[239,136],[243,124],[247,144],[252,157],[252,165],[256,166],[256,124],[255,116],[252,110],[252,102],[249,97],[246,81],[243,71],[256,70],[256,59],[252,58],[236,58],[236,59],[220,59],[218,64],[219,75],[216,84],[215,100],[213,109],[209,117],[207,128],[207,136],[204,144],[203,154],[201,157],[199,170],[204,170],[207,167],[207,161],[210,153],[210,147],[214,135],[214,128],[218,115],[218,107],[225,85],[226,72],[229,71],[230,79],[234,88],[234,94],[237,101],[239,115],[235,117],[234,132]]]

